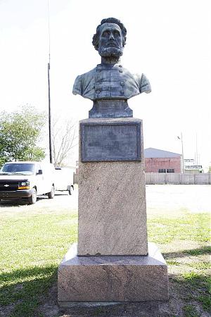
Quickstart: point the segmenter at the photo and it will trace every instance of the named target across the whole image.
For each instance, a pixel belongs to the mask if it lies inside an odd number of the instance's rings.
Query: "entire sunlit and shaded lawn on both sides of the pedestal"
[[[77,211],[10,208],[0,209],[0,316],[63,316],[59,310],[45,315],[40,307],[56,285],[58,264],[77,241]],[[209,239],[209,213],[182,209],[159,216],[148,210],[148,240],[158,244],[167,261],[170,302],[165,314],[145,316],[210,316]],[[117,308],[100,308],[71,316],[123,316],[118,313]]]

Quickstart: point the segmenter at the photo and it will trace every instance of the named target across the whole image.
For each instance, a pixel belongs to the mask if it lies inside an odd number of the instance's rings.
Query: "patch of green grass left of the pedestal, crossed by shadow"
[[[18,213],[1,217],[0,305],[16,303],[11,316],[34,310],[57,278],[58,263],[77,240],[77,213]]]

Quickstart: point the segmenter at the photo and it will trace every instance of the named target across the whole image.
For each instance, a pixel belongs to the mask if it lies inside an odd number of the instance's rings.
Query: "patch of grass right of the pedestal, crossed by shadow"
[[[179,283],[184,289],[184,297],[188,302],[197,302],[205,311],[210,311],[210,215],[208,213],[187,213],[179,217],[148,217],[148,239],[160,244],[165,249],[163,255],[167,265],[172,267],[172,281]],[[187,247],[188,244],[199,245],[196,249],[179,249],[177,243]],[[176,247],[175,251],[172,251]],[[170,251],[166,251],[167,249]],[[188,259],[188,261],[187,261]],[[196,261],[197,260],[197,261]],[[176,274],[174,267],[177,268]],[[184,305],[184,316],[198,317],[200,313],[194,304]]]

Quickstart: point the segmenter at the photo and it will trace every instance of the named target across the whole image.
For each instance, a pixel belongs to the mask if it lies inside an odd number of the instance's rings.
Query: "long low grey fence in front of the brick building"
[[[210,185],[211,173],[146,173],[146,184]]]

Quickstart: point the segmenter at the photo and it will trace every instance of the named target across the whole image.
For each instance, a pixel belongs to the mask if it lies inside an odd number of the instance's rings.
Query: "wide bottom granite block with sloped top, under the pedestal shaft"
[[[153,243],[148,256],[77,256],[70,247],[58,268],[58,304],[167,301],[167,265]]]

